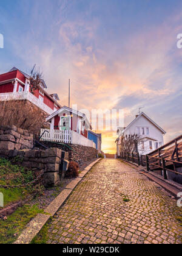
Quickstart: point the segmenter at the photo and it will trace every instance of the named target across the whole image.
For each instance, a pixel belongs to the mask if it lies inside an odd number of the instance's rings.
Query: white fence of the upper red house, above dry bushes
[[[0,101],[22,101],[25,99],[32,102],[37,107],[41,108],[49,115],[51,115],[54,112],[52,108],[45,105],[44,102],[40,101],[30,92],[22,91],[16,93],[0,93]]]

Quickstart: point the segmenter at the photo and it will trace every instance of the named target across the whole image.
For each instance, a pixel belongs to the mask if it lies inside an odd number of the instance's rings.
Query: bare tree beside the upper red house
[[[30,92],[34,94],[35,90],[39,88],[39,84],[41,84],[43,75],[39,71],[39,69],[35,69],[35,66],[33,66],[31,72],[30,72]]]

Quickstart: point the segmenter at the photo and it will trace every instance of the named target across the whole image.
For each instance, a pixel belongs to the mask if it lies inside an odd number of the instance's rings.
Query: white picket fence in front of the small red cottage
[[[44,134],[43,134],[44,133]],[[42,135],[43,134],[43,135]],[[73,130],[41,129],[42,141],[55,141],[59,143],[78,144],[96,148],[96,144]]]

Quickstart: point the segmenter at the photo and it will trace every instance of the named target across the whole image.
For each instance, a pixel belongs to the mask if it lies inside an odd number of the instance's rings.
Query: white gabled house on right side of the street
[[[145,113],[136,115],[136,118],[126,127],[118,127],[117,154],[121,154],[120,138],[125,135],[140,135],[140,143],[138,144],[138,152],[140,155],[147,155],[155,149],[164,145],[164,135],[166,132],[158,126]]]

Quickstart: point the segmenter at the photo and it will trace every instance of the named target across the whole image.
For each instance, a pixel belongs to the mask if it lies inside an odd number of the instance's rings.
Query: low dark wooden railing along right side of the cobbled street
[[[139,155],[139,153],[121,152],[121,158],[139,166],[146,166],[147,171],[155,172],[166,180],[173,180],[182,184],[182,162],[152,155]]]

